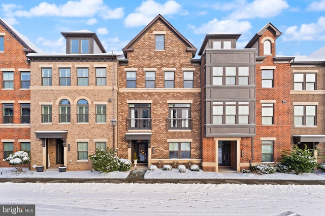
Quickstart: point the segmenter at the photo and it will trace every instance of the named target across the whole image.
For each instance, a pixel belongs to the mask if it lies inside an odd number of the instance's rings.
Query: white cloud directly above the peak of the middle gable
[[[126,27],[136,27],[147,25],[157,14],[163,16],[179,13],[181,5],[174,0],[169,0],[165,4],[156,3],[153,0],[142,2],[140,7],[136,8],[136,13],[129,14],[124,24]]]

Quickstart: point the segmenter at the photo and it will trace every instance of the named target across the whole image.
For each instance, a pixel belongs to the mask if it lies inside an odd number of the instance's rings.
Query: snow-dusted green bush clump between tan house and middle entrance
[[[89,155],[92,169],[99,172],[127,171],[131,169],[132,162],[127,159],[119,159],[111,149],[97,149],[95,154]]]

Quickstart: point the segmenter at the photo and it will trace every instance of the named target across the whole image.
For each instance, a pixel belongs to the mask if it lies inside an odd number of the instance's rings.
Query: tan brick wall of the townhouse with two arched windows
[[[72,65],[71,67],[71,86],[59,87],[58,86],[58,67],[57,65]],[[89,86],[77,87],[77,68],[75,65],[89,65]],[[107,66],[107,86],[95,86],[95,67],[94,65],[106,64]],[[116,63],[115,63],[116,64]],[[52,65],[52,87],[40,87],[41,85],[41,67],[40,65]],[[117,64],[115,65],[115,70]],[[77,161],[78,149],[77,139],[89,139],[88,142],[88,155],[95,152],[94,139],[107,139],[107,147],[112,148],[112,135],[113,129],[110,119],[113,118],[113,102],[108,102],[109,99],[113,100],[112,90],[112,62],[32,62],[31,63],[32,79],[31,82],[34,86],[31,88],[31,154],[34,164],[42,164],[42,142],[36,138],[36,131],[68,131],[67,146],[70,145],[70,151],[67,152],[67,166],[68,170],[86,170],[91,169],[91,160],[88,162]],[[117,78],[117,74],[116,78]],[[116,85],[116,82],[115,82]],[[115,88],[115,118],[117,118],[117,88]],[[71,103],[71,123],[59,123],[59,102],[62,99],[68,99]],[[77,123],[77,102],[80,99],[88,101],[89,107],[89,123]],[[100,103],[102,102],[102,103]],[[52,123],[41,123],[41,104],[52,104]],[[106,104],[106,123],[96,123],[95,119],[95,106],[96,104]],[[117,137],[117,130],[115,134]],[[54,142],[55,139],[50,139]],[[116,140],[115,140],[116,142]],[[49,151],[53,151],[54,146],[49,147]],[[50,162],[55,164],[55,154],[50,152]],[[53,163],[54,161],[54,163]]]

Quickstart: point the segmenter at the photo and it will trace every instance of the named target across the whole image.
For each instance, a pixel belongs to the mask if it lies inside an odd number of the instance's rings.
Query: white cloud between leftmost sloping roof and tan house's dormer
[[[37,44],[44,53],[66,53],[66,39],[64,39],[64,37],[60,37],[56,40],[39,37],[37,39]]]

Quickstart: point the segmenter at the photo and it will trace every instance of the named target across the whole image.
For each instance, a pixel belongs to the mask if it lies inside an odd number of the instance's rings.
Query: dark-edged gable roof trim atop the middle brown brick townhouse
[[[192,52],[192,57],[195,56],[197,52],[197,48],[194,47],[181,33],[179,33],[163,16],[158,14],[156,18],[154,18],[135,38],[133,38],[123,49],[123,54],[125,58],[127,58],[128,52],[133,52],[133,44],[149,29],[151,28],[156,21],[160,20],[163,22],[167,27],[171,29],[183,42],[186,44],[187,49],[186,51]]]

